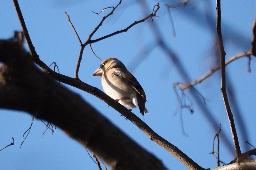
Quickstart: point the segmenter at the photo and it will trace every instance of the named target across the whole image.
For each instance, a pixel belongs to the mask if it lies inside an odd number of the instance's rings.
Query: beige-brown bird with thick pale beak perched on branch
[[[138,107],[144,118],[146,94],[138,80],[129,72],[124,64],[116,58],[108,58],[92,76],[101,76],[101,84],[105,93],[124,107]]]

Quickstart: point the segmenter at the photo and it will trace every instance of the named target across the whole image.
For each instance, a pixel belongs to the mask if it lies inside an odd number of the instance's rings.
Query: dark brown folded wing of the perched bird
[[[139,93],[143,98],[146,99],[146,94],[143,88],[141,87],[140,83],[128,70],[127,72],[125,72],[125,74],[123,70],[113,71],[112,74],[120,78],[121,80],[123,80],[124,83],[127,83],[128,85],[130,85],[137,93]]]

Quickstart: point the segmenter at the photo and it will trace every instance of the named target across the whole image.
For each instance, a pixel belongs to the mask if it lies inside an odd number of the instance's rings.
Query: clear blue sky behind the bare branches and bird
[[[47,65],[57,62],[60,73],[74,77],[76,61],[79,54],[79,41],[71,26],[67,22],[64,11],[70,15],[70,19],[76,28],[81,40],[86,41],[88,35],[98,25],[108,11],[100,15],[98,12],[109,6],[116,6],[119,1],[95,1],[78,0],[68,1],[20,1],[30,38],[41,60]],[[215,43],[215,1],[191,1],[186,6],[172,10],[172,19],[176,31],[176,39],[172,36],[172,25],[164,4],[169,1],[148,1],[143,10],[151,13],[155,4],[160,3],[160,10],[154,18],[154,23],[161,31],[165,43],[178,56],[191,81],[202,77],[212,67],[216,66],[213,45]],[[180,1],[172,1],[177,4]],[[251,26],[255,18],[254,0],[221,2],[222,33],[226,59],[233,55],[250,49],[252,38]],[[147,9],[148,8],[148,9]],[[124,1],[114,15],[105,20],[92,39],[100,38],[109,33],[116,32],[144,18],[140,4],[137,1]],[[0,2],[0,38],[12,37],[14,31],[20,31],[21,27],[12,1]],[[187,109],[182,110],[183,125],[187,135],[182,133],[179,111],[174,116],[177,108],[177,97],[173,90],[173,83],[185,83],[180,76],[180,68],[170,61],[163,50],[156,46],[155,33],[151,29],[151,20],[132,27],[126,33],[121,33],[106,40],[92,44],[94,52],[102,59],[116,57],[121,60],[138,79],[146,92],[146,107],[149,115],[145,115],[145,122],[169,142],[177,146],[197,164],[204,168],[217,167],[216,159],[210,155],[212,152],[212,140],[218,132],[212,127],[212,120],[207,120],[208,113],[202,111],[190,93],[188,96],[194,102],[194,113]],[[141,55],[142,48],[146,47],[150,52]],[[140,57],[144,57],[142,62]],[[92,54],[89,46],[85,48],[79,78],[87,84],[102,89],[100,77],[92,77],[92,73],[99,67],[100,61]],[[248,59],[238,59],[227,66],[227,76],[232,85],[232,92],[237,101],[231,102],[231,109],[238,106],[239,118],[234,113],[237,133],[242,152],[252,149],[245,144],[248,140],[256,145],[255,135],[255,57],[252,56],[251,69],[248,73]],[[64,84],[63,84],[64,85]],[[152,142],[140,129],[130,121],[124,120],[113,108],[108,107],[100,99],[79,89],[65,85],[70,90],[79,93],[106,116],[113,124],[122,129],[129,137],[143,148],[153,153],[163,161],[169,169],[187,169],[169,152]],[[220,72],[217,71],[210,78],[204,80],[195,88],[206,98],[206,107],[218,124],[221,123],[220,132],[220,159],[228,163],[235,158],[232,136],[230,133],[227,114],[220,92]],[[186,91],[185,91],[186,92]],[[138,108],[133,113],[141,115]],[[75,140],[69,138],[57,127],[53,136],[47,131],[42,138],[45,125],[40,120],[34,120],[32,129],[20,149],[23,141],[23,133],[31,123],[31,116],[24,112],[0,109],[0,148],[15,142],[0,153],[0,169],[98,169],[89,157],[84,147]],[[244,126],[238,123],[244,121]],[[243,138],[244,133],[248,138]],[[223,142],[226,136],[229,143]]]

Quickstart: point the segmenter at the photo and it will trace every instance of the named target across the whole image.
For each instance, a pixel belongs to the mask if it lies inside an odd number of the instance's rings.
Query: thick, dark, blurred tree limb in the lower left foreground
[[[31,59],[19,41],[0,41],[0,108],[26,111],[54,123],[112,169],[166,169],[79,95],[40,71]]]

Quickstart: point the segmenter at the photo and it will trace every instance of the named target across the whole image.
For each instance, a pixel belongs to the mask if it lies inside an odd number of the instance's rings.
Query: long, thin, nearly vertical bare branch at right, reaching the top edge
[[[226,91],[226,64],[225,64],[225,50],[224,50],[224,45],[223,45],[223,40],[222,40],[222,34],[221,34],[221,11],[220,11],[220,0],[217,0],[216,3],[217,6],[217,24],[216,24],[216,30],[217,30],[217,35],[218,35],[218,40],[219,40],[219,47],[220,47],[220,72],[221,72],[221,88],[220,91],[222,92],[224,104],[226,107],[226,111],[228,114],[228,121],[230,124],[230,129],[233,137],[233,142],[235,146],[235,152],[236,152],[236,158],[237,162],[241,162],[241,150],[239,146],[239,141],[238,137],[236,134],[236,126],[233,118],[233,114],[231,112],[231,108],[228,102],[228,95]]]

